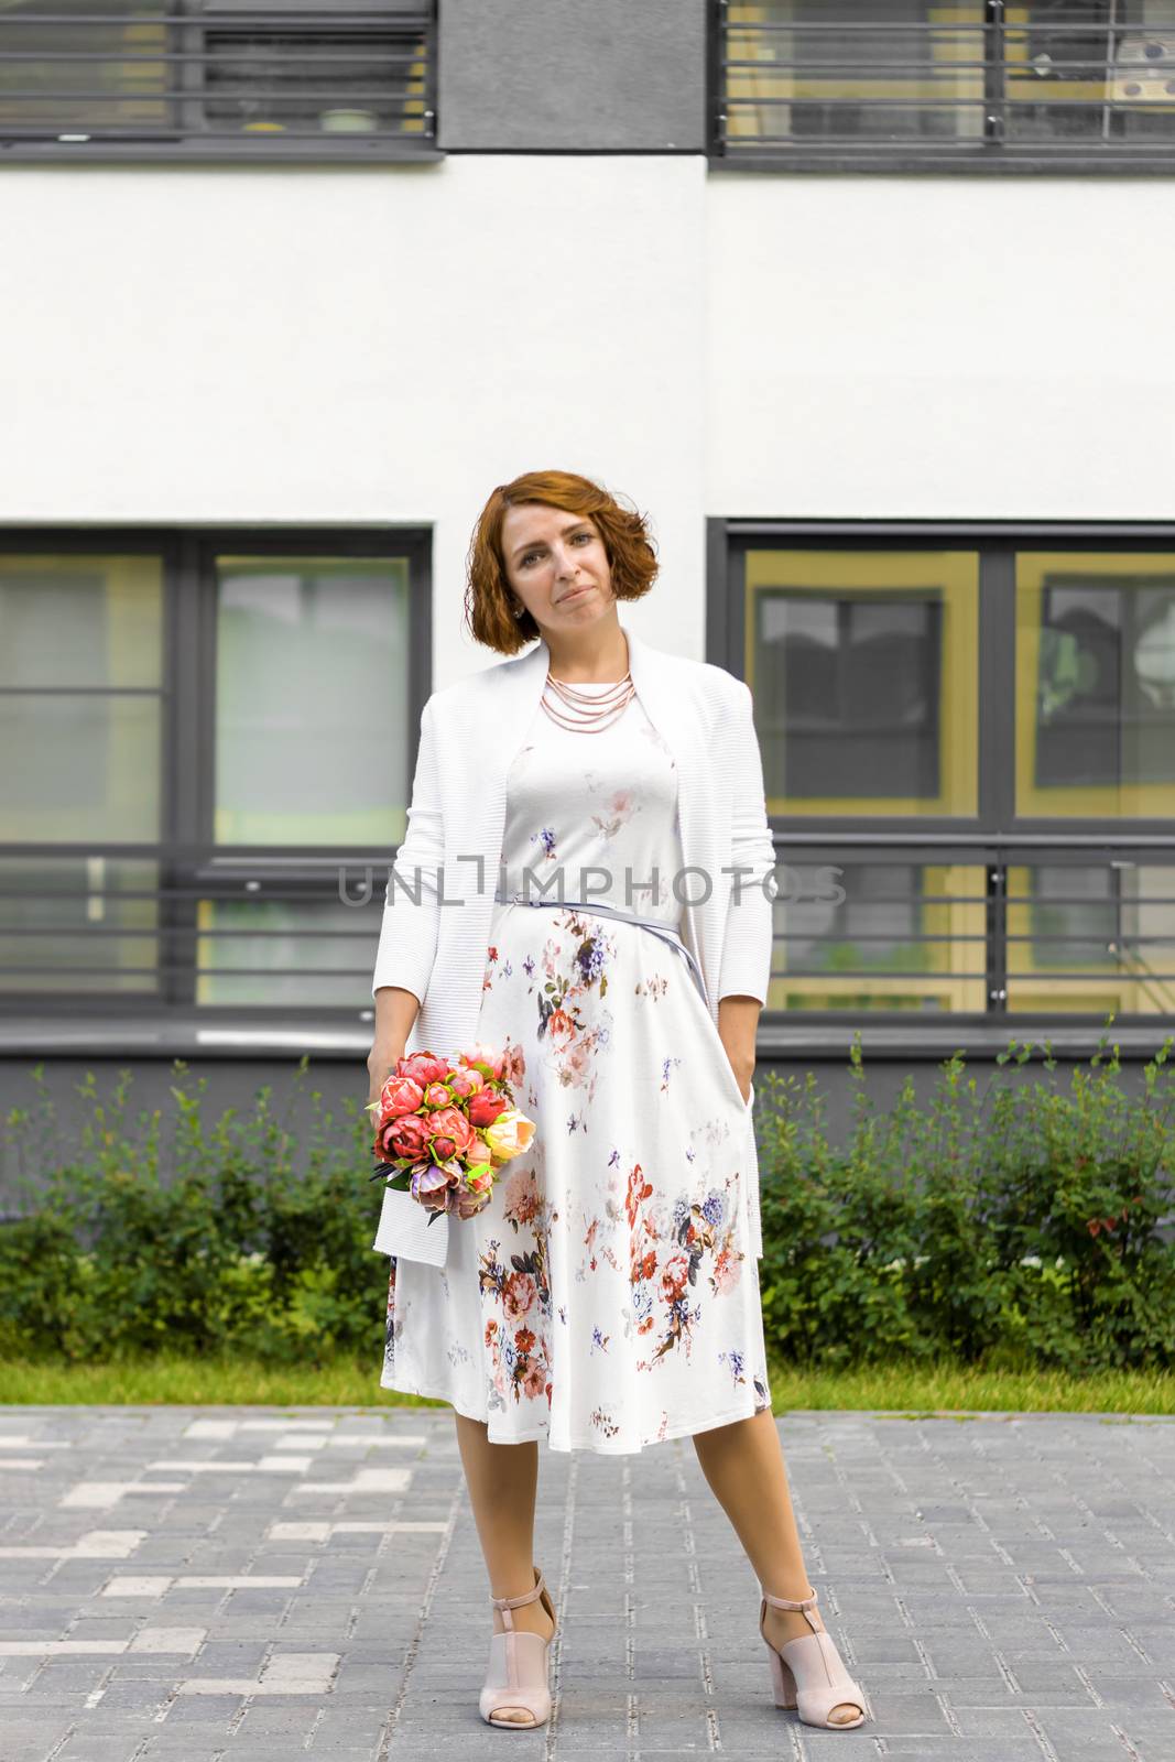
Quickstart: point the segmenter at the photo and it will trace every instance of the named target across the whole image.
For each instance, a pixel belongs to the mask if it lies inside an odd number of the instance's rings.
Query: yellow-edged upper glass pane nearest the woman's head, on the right
[[[772,814],[974,814],[978,557],[747,552]]]

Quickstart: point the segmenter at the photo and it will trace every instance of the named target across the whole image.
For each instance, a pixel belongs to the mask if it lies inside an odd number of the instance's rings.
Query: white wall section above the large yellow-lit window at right
[[[708,183],[706,506],[1171,518],[1166,178]]]

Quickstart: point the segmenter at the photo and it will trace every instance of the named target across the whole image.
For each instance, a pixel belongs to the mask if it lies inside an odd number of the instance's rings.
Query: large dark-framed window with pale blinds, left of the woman
[[[425,544],[0,536],[0,1006],[370,1006]]]

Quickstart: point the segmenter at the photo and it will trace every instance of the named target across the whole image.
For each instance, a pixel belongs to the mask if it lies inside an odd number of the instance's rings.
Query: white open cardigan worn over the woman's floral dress
[[[779,885],[752,698],[721,666],[654,648],[627,626],[625,636],[636,694],[676,763],[685,865],[678,892],[687,897],[682,936],[701,966],[717,1024],[721,997],[766,1003],[772,971],[772,900]],[[372,980],[372,996],[382,985],[398,985],[421,999],[409,1052],[444,1055],[474,1043],[502,856],[506,777],[539,708],[548,668],[550,650],[539,640],[523,655],[435,691],[421,712],[407,835],[388,874]],[[639,893],[632,909],[641,911]],[[752,1253],[759,1256],[750,1105],[747,1188]],[[400,1219],[421,1207],[407,1196],[393,1205],[398,1198],[384,1188],[375,1247],[414,1258]],[[430,1235],[446,1223],[442,1218],[430,1225]]]

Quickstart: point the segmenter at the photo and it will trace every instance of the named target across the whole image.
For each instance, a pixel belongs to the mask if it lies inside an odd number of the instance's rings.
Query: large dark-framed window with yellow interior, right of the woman
[[[754,694],[768,1011],[1175,1013],[1175,534],[715,522]]]

